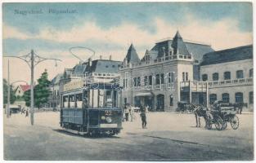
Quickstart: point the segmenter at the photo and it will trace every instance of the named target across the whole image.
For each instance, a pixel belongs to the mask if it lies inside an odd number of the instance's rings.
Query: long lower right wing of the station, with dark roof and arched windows
[[[253,46],[240,46],[204,55],[200,80],[208,81],[209,104],[215,100],[254,105]]]

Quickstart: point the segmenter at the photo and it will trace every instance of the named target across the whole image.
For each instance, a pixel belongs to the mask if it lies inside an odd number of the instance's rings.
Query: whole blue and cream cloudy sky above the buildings
[[[68,11],[68,13],[66,13]],[[2,55],[26,55],[32,49],[44,58],[35,68],[35,79],[44,69],[49,79],[73,68],[79,59],[70,48],[84,46],[108,59],[123,60],[131,43],[139,57],[155,42],[174,37],[210,44],[215,51],[253,42],[250,2],[72,2],[3,3]],[[92,51],[72,51],[86,60]],[[10,60],[10,81],[29,81],[29,66]],[[7,78],[7,58],[3,59]]]

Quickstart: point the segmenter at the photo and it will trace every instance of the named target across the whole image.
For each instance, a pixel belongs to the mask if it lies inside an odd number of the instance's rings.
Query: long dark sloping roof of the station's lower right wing
[[[207,53],[200,65],[220,64],[242,59],[253,59],[253,45]]]

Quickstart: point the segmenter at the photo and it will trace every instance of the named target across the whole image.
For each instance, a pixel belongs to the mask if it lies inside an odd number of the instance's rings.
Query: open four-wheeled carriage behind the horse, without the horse
[[[238,129],[239,118],[236,116],[236,112],[233,104],[227,104],[221,101],[214,103],[212,108],[206,111],[206,128],[211,130],[214,124],[217,130],[225,130],[227,123],[230,122],[233,130]]]

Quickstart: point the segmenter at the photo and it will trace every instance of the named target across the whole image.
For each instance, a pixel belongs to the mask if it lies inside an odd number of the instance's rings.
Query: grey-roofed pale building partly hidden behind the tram
[[[52,95],[49,98],[50,107],[60,107],[61,93],[72,87],[85,86],[87,83],[103,83],[119,78],[119,67],[122,62],[110,59],[88,59],[74,68],[65,68],[63,74],[52,79]],[[81,85],[81,83],[83,83]]]

